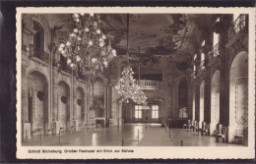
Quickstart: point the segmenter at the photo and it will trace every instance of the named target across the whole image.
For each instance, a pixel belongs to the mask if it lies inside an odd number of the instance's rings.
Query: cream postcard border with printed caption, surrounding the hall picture
[[[68,10],[67,10],[68,9]],[[67,12],[68,11],[68,12]],[[21,104],[22,104],[22,23],[23,13],[187,13],[187,14],[232,14],[242,13],[249,15],[249,125],[247,147],[238,146],[22,146]],[[254,8],[171,8],[171,7],[54,7],[54,8],[17,8],[17,158],[19,159],[121,159],[121,158],[161,158],[161,159],[248,159],[255,158],[255,128],[254,128],[254,98],[255,98],[255,9]],[[253,75],[253,76],[252,76]],[[252,78],[253,77],[253,78]],[[253,88],[253,89],[252,89]],[[29,153],[32,149],[62,150],[62,153]],[[67,150],[79,149],[111,149],[134,150],[133,153],[65,153]]]

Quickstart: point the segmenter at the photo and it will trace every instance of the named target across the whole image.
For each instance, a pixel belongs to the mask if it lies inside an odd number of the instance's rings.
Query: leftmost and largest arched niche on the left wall
[[[48,120],[48,83],[45,76],[32,71],[28,76],[28,123],[31,123],[32,134],[45,130]]]

